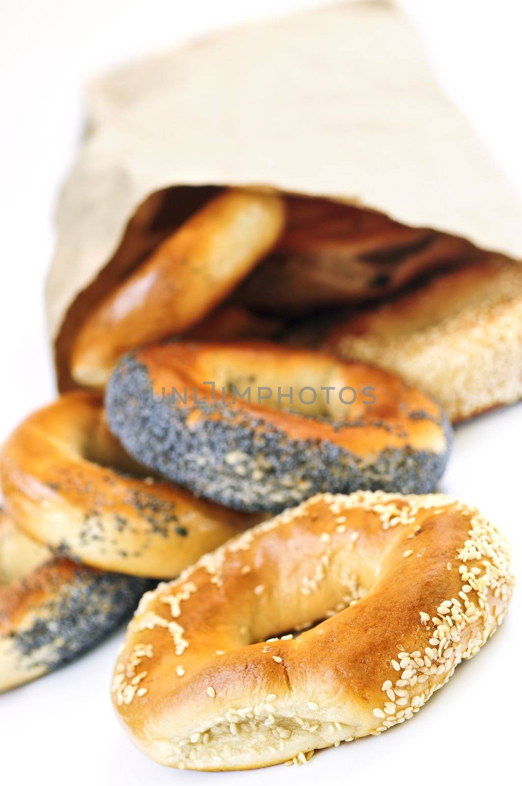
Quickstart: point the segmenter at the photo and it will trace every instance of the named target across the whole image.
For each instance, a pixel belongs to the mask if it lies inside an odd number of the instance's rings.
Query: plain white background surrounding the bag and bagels
[[[0,20],[0,440],[53,398],[42,285],[57,189],[83,128],[82,85],[112,64],[236,21],[318,6],[303,0],[2,0]],[[522,194],[522,16],[516,0],[405,0],[439,80]],[[522,227],[521,227],[522,231]],[[441,490],[502,527],[520,564],[522,406],[458,428]],[[518,571],[520,572],[520,571]],[[486,784],[519,769],[520,602],[490,645],[414,720],[316,755],[307,766],[178,773],[127,741],[108,701],[121,633],[56,674],[0,697],[6,784]],[[520,646],[518,648],[520,653]]]

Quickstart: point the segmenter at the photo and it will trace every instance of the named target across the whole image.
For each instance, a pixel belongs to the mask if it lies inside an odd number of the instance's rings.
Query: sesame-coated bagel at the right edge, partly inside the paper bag
[[[522,265],[493,258],[336,325],[325,347],[421,387],[454,422],[522,397]]]

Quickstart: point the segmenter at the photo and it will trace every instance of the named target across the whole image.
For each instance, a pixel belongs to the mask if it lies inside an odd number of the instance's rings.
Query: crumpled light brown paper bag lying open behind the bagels
[[[46,291],[61,389],[86,310],[212,185],[331,196],[522,255],[520,201],[392,4],[349,2],[198,39],[90,87]],[[160,192],[172,186],[163,215]]]

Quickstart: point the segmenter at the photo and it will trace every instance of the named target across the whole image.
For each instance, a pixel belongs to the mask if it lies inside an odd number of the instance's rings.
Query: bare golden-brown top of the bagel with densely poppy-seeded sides
[[[138,363],[149,369],[153,380],[154,391],[161,395],[161,388],[171,387],[182,391],[188,387],[189,396],[193,386],[199,388],[200,398],[208,397],[208,389],[203,381],[210,379],[215,383],[219,401],[222,401],[220,389],[248,380],[252,388],[270,387],[274,391],[273,399],[277,398],[278,387],[283,393],[293,385],[308,385],[319,391],[328,385],[339,391],[343,387],[353,387],[362,391],[363,387],[372,387],[375,403],[366,406],[362,395],[353,405],[344,406],[335,393],[330,395],[330,405],[318,401],[314,407],[303,404],[294,394],[292,412],[285,406],[286,399],[281,395],[281,406],[272,402],[256,404],[245,402],[237,396],[235,404],[242,413],[251,411],[255,415],[263,415],[268,424],[284,424],[285,431],[296,439],[329,439],[342,446],[350,446],[358,454],[368,455],[384,446],[401,446],[408,434],[414,446],[443,450],[443,434],[437,428],[439,417],[438,407],[420,391],[405,385],[395,376],[383,373],[380,369],[362,363],[338,362],[329,354],[296,347],[282,347],[271,343],[184,343],[148,347],[134,353]],[[348,396],[348,398],[350,398]],[[226,393],[225,402],[232,403],[232,395]],[[322,409],[324,406],[324,410]],[[429,416],[424,421],[416,421],[419,428],[412,429],[408,416],[411,412],[424,411]],[[313,416],[317,415],[317,419]],[[303,417],[304,416],[304,417]],[[324,416],[331,421],[321,420]],[[395,428],[384,433],[373,426],[373,421],[387,420]],[[348,421],[364,421],[366,428],[343,432],[336,429],[336,424]]]

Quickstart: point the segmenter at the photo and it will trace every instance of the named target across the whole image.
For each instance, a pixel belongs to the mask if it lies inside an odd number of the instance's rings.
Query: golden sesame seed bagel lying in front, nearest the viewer
[[[411,718],[494,633],[512,583],[502,536],[453,498],[318,495],[145,593],[113,702],[167,766],[304,762]]]

